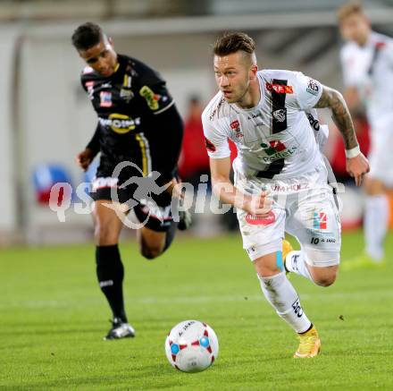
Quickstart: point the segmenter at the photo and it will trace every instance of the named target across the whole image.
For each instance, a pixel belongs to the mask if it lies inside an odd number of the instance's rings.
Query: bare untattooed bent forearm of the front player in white
[[[230,157],[210,158],[210,171],[214,194],[225,204],[246,210],[252,215],[265,215],[272,208],[272,202],[266,199],[266,193],[251,196],[239,191],[230,182]]]

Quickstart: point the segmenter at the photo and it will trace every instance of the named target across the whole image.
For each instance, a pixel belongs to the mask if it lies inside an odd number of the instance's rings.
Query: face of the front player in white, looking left
[[[218,88],[229,103],[241,102],[250,85],[251,64],[241,52],[214,55],[214,74]]]

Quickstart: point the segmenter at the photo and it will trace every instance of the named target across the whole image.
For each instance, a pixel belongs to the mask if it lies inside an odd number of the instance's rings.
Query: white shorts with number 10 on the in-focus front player
[[[259,191],[268,189],[273,199],[271,217],[258,221],[238,209],[238,223],[243,248],[251,260],[282,250],[285,233],[297,238],[305,251],[306,262],[314,267],[339,264],[341,225],[333,193],[327,183],[326,167],[321,164],[314,171],[296,180],[257,180]],[[255,193],[255,180],[247,181],[235,174],[235,186],[241,191]]]

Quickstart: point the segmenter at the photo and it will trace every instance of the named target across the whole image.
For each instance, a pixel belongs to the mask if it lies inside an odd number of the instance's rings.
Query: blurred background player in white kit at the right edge
[[[340,57],[351,110],[365,107],[371,125],[371,171],[364,181],[365,252],[343,268],[384,265],[383,242],[388,232],[389,201],[393,187],[393,39],[371,30],[360,4],[339,8],[339,28],[347,41]]]

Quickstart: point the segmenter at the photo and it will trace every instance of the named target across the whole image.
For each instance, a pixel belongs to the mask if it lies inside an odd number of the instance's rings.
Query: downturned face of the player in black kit
[[[88,50],[80,50],[79,55],[96,72],[105,77],[113,75],[117,65],[117,55],[113,50],[111,38],[104,37],[94,47]]]

